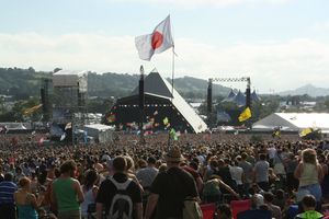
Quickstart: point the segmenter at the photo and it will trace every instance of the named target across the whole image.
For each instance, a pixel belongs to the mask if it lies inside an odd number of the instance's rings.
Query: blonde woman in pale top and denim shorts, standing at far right
[[[324,178],[324,172],[314,149],[303,150],[302,161],[297,165],[294,176],[299,180],[297,201],[300,201],[306,195],[315,196],[317,203],[321,201],[320,182]]]

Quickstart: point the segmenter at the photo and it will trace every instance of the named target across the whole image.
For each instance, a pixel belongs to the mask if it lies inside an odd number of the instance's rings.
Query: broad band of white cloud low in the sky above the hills
[[[305,83],[327,87],[329,43],[313,39],[290,42],[237,43],[218,47],[189,38],[175,41],[175,76],[243,77],[261,92],[286,90]],[[133,36],[104,34],[37,33],[0,34],[0,67],[56,67],[76,70],[138,73],[154,67],[171,76],[171,53],[155,55],[150,62],[138,59]],[[230,84],[227,84],[230,85]],[[235,84],[232,84],[235,85]]]

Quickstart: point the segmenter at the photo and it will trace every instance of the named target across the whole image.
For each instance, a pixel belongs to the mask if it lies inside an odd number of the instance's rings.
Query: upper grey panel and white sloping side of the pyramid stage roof
[[[144,92],[149,95],[160,96],[171,101],[171,84],[161,77],[156,69],[145,78]],[[133,94],[138,94],[138,87],[133,91]],[[186,119],[195,132],[202,132],[207,129],[207,125],[195,113],[185,100],[173,89],[173,106]]]

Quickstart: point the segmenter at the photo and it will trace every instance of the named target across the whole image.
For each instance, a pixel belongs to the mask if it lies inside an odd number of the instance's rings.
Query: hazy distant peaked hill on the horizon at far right
[[[326,96],[329,95],[329,89],[316,88],[311,84],[306,84],[295,90],[288,90],[280,92],[279,95],[304,95],[307,94],[309,96]]]

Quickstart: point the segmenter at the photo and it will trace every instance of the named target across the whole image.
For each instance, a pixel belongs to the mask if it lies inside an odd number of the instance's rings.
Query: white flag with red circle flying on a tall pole
[[[170,28],[170,15],[159,23],[151,34],[137,36],[135,45],[139,58],[150,60],[154,54],[159,54],[173,46]]]

